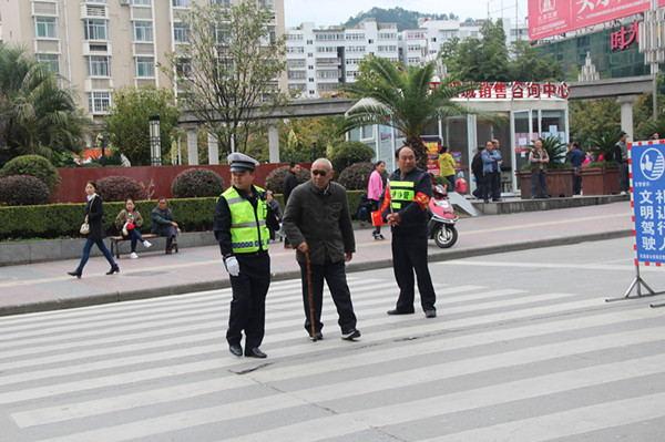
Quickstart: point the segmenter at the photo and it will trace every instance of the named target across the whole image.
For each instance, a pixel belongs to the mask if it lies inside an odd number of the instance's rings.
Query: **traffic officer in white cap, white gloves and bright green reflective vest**
[[[226,340],[228,350],[241,357],[245,332],[245,356],[266,358],[259,347],[270,285],[269,228],[279,228],[279,222],[266,204],[266,192],[254,185],[258,162],[241,153],[227,161],[232,187],[217,199],[213,223],[233,289]]]

